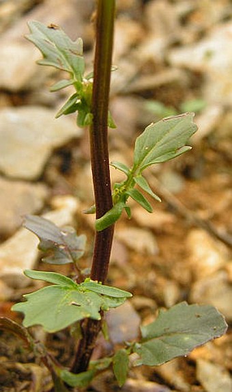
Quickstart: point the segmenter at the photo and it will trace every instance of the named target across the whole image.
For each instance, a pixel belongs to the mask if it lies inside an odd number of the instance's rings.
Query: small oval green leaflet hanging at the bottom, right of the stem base
[[[118,350],[113,356],[113,372],[119,383],[119,387],[122,387],[126,382],[129,369],[129,357],[127,351],[123,348]]]

